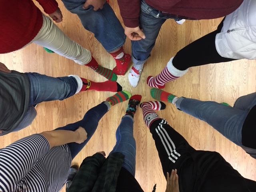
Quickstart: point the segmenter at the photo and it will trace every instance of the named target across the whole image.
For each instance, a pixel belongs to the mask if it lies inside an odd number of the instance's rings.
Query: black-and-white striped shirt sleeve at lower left
[[[22,138],[0,151],[0,191],[15,191],[22,178],[50,150],[41,134]]]

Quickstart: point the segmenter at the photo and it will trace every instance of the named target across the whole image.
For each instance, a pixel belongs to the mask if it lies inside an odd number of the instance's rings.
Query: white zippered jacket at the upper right
[[[222,57],[256,59],[256,0],[244,0],[226,16],[215,45]]]

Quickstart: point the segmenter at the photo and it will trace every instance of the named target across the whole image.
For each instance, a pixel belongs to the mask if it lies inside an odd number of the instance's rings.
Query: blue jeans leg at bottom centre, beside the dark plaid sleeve
[[[110,152],[120,152],[125,155],[122,167],[135,176],[136,142],[133,137],[134,120],[130,115],[123,116],[116,130],[116,145]]]

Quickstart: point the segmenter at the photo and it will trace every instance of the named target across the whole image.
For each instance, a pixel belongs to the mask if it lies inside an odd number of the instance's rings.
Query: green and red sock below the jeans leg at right
[[[178,97],[174,94],[163,91],[162,89],[152,88],[150,90],[151,96],[160,101],[168,101],[172,104],[175,104]]]

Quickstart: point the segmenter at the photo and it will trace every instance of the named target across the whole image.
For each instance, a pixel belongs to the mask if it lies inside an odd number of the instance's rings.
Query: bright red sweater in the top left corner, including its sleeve
[[[37,1],[47,14],[58,8],[55,0]],[[36,37],[42,24],[42,12],[32,0],[0,0],[0,54],[24,47]]]

